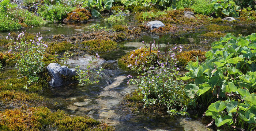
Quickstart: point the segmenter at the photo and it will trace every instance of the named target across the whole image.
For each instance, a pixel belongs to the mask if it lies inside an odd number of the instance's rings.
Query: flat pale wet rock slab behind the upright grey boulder
[[[92,55],[84,55],[83,57],[79,57],[77,59],[68,59],[67,64],[71,67],[75,68],[76,65],[80,66],[81,70],[87,70],[87,66],[90,65],[89,61],[92,60]],[[99,58],[93,60],[91,68],[100,67],[106,60]]]

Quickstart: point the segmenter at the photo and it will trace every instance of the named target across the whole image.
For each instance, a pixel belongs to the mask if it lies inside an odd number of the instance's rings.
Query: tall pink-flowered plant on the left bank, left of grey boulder
[[[43,70],[45,48],[48,47],[47,44],[44,44],[42,41],[42,36],[40,33],[34,37],[34,40],[26,41],[26,31],[20,33],[17,37],[9,37],[12,40],[15,40],[14,45],[11,45],[8,51],[9,53],[14,51],[16,57],[16,69],[19,72],[19,75],[24,77],[29,77],[30,82],[36,82],[39,77],[38,73]],[[6,37],[8,39],[8,37]],[[15,46],[15,47],[13,47]]]

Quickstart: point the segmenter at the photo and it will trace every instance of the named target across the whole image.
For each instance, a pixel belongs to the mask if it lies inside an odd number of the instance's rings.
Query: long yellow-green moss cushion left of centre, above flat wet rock
[[[117,43],[112,40],[87,40],[81,43],[82,51],[89,53],[106,53],[117,50]]]

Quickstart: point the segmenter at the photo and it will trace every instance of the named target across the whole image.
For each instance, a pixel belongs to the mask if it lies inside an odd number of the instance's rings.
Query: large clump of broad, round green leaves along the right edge
[[[228,33],[212,43],[204,63],[199,64],[198,59],[196,62],[190,61],[186,66],[189,72],[180,78],[194,79],[185,86],[187,96],[196,98],[203,108],[209,106],[206,114],[215,119],[218,127],[222,126],[226,130],[233,127],[245,130],[255,128],[255,111],[252,111],[255,110],[252,99],[255,99],[256,87],[255,36],[252,33],[246,37],[235,37]]]

